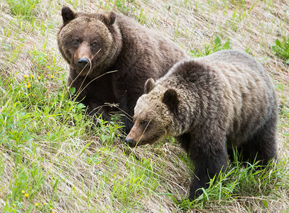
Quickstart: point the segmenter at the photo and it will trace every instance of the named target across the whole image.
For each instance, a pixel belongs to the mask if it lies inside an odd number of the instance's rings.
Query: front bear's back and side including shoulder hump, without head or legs
[[[217,120],[238,144],[276,116],[277,99],[271,77],[246,53],[223,50],[204,58],[183,60],[158,82],[179,91],[180,108],[190,111],[183,119],[192,120],[189,117],[199,111],[200,122]]]

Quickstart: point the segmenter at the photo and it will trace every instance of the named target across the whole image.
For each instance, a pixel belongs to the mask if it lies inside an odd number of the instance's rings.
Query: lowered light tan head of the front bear
[[[178,108],[178,93],[148,79],[143,94],[136,102],[133,128],[126,136],[131,147],[153,144],[170,136]]]

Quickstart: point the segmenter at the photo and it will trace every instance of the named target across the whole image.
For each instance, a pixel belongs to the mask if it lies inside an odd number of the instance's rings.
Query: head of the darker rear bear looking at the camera
[[[62,18],[58,47],[70,68],[81,76],[102,74],[120,51],[116,13],[77,13],[63,7]]]

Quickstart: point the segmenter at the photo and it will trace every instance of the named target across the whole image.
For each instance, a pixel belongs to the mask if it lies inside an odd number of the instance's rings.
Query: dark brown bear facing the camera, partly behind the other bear
[[[58,47],[70,65],[68,86],[89,114],[109,119],[107,103],[119,104],[126,115],[126,132],[133,107],[150,77],[158,79],[187,55],[161,35],[133,19],[114,13],[77,13],[62,8]]]

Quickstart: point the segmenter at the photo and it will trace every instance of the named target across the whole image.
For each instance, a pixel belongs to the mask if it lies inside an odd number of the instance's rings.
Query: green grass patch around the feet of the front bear
[[[258,163],[251,165],[235,160],[225,173],[220,173],[209,182],[209,187],[203,189],[203,195],[197,200],[178,202],[180,209],[203,209],[210,204],[217,204],[222,209],[233,200],[241,200],[241,204],[246,205],[242,198],[252,197],[260,209],[266,210],[268,202],[275,200],[274,195],[280,196],[276,193],[278,189],[288,190],[289,176],[284,175],[289,172],[286,164],[287,160],[284,159],[260,168]]]

